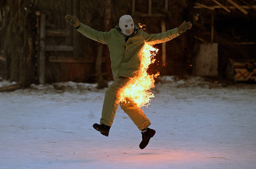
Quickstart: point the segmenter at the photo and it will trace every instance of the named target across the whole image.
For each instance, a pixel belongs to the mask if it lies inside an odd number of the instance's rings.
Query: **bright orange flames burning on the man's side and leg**
[[[121,89],[120,102],[126,103],[126,98],[129,98],[138,107],[148,106],[150,98],[154,98],[154,94],[150,92],[150,88],[154,86],[154,78],[159,75],[159,72],[153,75],[147,73],[150,64],[155,62],[154,56],[159,49],[152,47],[145,43],[144,48],[140,54],[140,70],[137,77],[130,78],[129,82]],[[147,104],[148,103],[148,104]]]

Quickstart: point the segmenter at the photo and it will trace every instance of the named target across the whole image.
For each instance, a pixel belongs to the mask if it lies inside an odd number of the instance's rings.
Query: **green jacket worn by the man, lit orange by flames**
[[[119,25],[109,32],[100,32],[81,23],[77,31],[87,38],[108,45],[114,80],[121,76],[137,75],[140,69],[140,53],[145,42],[154,45],[167,42],[180,35],[177,28],[159,34],[147,34],[136,24],[134,33],[127,41],[125,40],[127,36],[121,32]]]

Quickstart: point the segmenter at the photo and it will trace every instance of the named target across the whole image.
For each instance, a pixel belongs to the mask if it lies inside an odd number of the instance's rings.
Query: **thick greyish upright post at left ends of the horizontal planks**
[[[46,22],[46,15],[45,13],[41,14],[41,21],[40,21],[40,52],[39,52],[39,61],[38,61],[38,77],[39,77],[39,84],[45,83],[45,22]]]

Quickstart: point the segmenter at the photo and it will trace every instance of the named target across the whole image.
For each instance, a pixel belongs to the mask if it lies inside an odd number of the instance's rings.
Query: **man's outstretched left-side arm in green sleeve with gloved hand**
[[[105,44],[107,44],[110,39],[110,32],[101,32],[94,30],[91,27],[80,23],[75,15],[71,16],[67,14],[65,16],[65,20],[69,22],[72,26],[74,26],[78,32],[85,35],[87,38]]]

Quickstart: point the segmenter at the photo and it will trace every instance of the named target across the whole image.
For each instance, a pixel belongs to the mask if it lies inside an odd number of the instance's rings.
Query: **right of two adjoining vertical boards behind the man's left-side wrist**
[[[77,0],[73,0],[73,4],[72,4],[72,11],[73,11],[73,15],[75,15],[76,17],[79,18],[79,9],[80,6],[78,6],[78,1]],[[80,37],[80,33],[73,28],[73,57],[79,57],[79,37]]]

